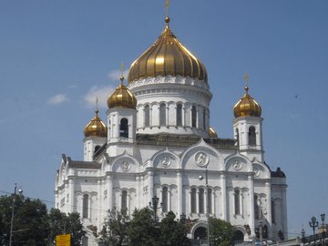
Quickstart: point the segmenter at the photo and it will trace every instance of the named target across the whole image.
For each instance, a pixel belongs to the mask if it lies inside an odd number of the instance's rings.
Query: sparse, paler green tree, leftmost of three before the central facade
[[[108,217],[100,231],[105,246],[120,246],[128,237],[128,215],[125,210],[108,210]]]

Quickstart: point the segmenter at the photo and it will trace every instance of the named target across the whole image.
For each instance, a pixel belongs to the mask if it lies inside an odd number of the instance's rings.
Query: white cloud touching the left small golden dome
[[[84,97],[87,106],[95,108],[98,98],[98,108],[107,108],[107,99],[113,93],[115,87],[91,87]]]

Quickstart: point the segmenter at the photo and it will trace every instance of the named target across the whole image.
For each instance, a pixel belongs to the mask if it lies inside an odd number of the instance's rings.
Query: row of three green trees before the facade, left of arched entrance
[[[100,235],[106,246],[120,246],[127,241],[131,246],[190,245],[186,220],[175,219],[172,211],[159,222],[149,208],[134,210],[131,220],[124,212],[112,210],[108,211]]]

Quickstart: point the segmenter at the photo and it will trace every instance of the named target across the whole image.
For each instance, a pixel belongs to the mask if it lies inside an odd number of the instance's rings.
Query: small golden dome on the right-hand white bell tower
[[[233,108],[235,118],[239,117],[261,117],[261,106],[248,94],[249,87],[245,87],[245,95]]]

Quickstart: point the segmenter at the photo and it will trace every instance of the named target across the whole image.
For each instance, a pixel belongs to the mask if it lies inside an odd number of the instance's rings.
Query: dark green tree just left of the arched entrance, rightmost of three
[[[166,217],[160,221],[160,245],[187,246],[190,240],[187,237],[186,220],[175,220],[174,212],[169,211]]]

